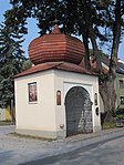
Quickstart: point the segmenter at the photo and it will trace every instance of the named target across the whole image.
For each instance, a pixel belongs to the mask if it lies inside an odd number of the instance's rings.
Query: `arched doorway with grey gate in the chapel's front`
[[[89,92],[74,86],[65,95],[66,136],[93,132],[92,103]]]

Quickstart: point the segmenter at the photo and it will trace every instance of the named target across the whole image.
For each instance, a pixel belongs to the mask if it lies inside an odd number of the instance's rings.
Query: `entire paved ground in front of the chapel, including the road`
[[[0,126],[0,165],[124,165],[124,128],[46,142]]]

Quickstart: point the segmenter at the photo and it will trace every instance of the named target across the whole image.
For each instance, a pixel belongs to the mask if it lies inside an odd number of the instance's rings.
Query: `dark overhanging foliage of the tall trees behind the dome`
[[[54,20],[59,20],[61,31],[66,34],[82,35],[85,44],[85,64],[89,65],[89,41],[93,47],[96,69],[101,73],[100,48],[110,48],[110,74],[115,74],[118,45],[124,32],[124,1],[123,0],[10,0],[12,9],[4,13],[6,28],[18,37],[28,33],[27,20],[38,20],[40,34],[52,30]],[[113,81],[108,81],[111,93],[114,92]],[[111,86],[111,87],[110,87]],[[112,95],[110,95],[112,99]],[[114,99],[112,99],[114,101]],[[111,106],[110,101],[110,106]],[[112,106],[114,106],[112,104]],[[113,109],[113,107],[108,107]]]

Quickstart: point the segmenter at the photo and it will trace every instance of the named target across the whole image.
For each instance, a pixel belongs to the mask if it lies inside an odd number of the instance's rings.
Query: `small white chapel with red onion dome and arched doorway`
[[[60,32],[29,45],[33,65],[14,76],[16,132],[46,138],[64,138],[101,131],[99,78],[80,63],[83,42]]]

